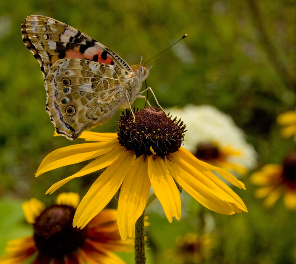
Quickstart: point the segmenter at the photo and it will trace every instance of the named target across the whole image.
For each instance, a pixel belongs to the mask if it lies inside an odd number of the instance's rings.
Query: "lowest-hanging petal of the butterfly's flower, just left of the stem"
[[[147,204],[150,180],[147,155],[136,159],[126,173],[118,200],[118,229],[122,240],[135,236],[135,224]]]

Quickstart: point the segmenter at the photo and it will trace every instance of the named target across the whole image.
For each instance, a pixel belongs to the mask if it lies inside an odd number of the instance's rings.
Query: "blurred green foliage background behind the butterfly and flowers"
[[[279,113],[295,108],[295,8],[293,0],[0,1],[0,255],[6,241],[31,232],[22,217],[22,201],[36,197],[50,202],[70,190],[82,197],[99,175],[75,179],[46,196],[49,186],[82,164],[34,178],[48,153],[73,143],[52,136],[40,67],[22,42],[20,25],[26,16],[41,14],[65,22],[129,64],[139,63],[140,56],[147,61],[188,33],[150,61],[147,84],[163,107],[211,104],[230,114],[255,146],[262,166],[281,163],[285,153],[295,149],[291,139],[280,137],[275,121]],[[138,99],[134,105],[144,103]],[[119,114],[93,131],[115,132]],[[253,197],[255,187],[247,177],[243,182],[247,190],[235,191],[249,213],[224,216],[194,202],[191,216],[168,223],[151,211],[147,263],[171,263],[166,252],[174,248],[175,237],[200,231],[200,210],[215,220],[215,247],[205,263],[295,263],[295,212],[285,210],[281,200],[275,208],[263,208]],[[116,203],[109,207],[116,208]],[[132,253],[120,256],[133,263]]]

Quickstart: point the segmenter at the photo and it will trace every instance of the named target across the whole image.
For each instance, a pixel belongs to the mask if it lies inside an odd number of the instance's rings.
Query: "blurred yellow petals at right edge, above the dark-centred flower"
[[[279,114],[276,121],[285,126],[281,130],[283,137],[291,137],[294,135],[294,141],[296,142],[296,110],[287,111],[286,113]]]

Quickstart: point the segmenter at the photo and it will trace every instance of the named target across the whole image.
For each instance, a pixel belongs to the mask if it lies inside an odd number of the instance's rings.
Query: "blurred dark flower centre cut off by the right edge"
[[[296,189],[296,151],[290,152],[283,163],[283,180],[291,189]]]

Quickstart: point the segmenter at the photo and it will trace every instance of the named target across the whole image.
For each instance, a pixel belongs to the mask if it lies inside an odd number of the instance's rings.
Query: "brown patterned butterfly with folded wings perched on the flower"
[[[131,108],[150,67],[129,66],[114,51],[53,18],[32,15],[22,23],[22,39],[39,62],[46,108],[58,134],[75,140],[102,125],[120,107]]]

